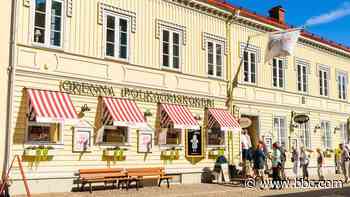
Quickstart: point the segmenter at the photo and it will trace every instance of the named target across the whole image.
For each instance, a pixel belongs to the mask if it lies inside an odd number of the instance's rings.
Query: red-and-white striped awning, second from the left
[[[142,111],[133,100],[103,97],[103,117],[105,125],[147,128]]]

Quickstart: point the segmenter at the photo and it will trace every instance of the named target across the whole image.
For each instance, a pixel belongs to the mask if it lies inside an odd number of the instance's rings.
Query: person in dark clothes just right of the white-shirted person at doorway
[[[254,169],[255,169],[255,180],[260,180],[260,183],[262,184],[264,181],[264,167],[265,167],[265,160],[266,155],[264,153],[264,147],[263,144],[259,143],[257,145],[257,148],[253,154],[253,160],[254,160]]]

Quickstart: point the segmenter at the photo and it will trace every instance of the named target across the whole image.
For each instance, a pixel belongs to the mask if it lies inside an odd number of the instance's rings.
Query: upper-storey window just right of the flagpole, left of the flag
[[[244,51],[243,58],[244,82],[256,83],[256,53]]]

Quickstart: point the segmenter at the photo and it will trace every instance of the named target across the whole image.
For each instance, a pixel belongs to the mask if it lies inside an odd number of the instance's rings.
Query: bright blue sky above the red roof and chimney
[[[290,25],[301,26],[312,17],[323,14],[341,15],[338,19],[307,27],[306,30],[324,38],[350,46],[350,0],[226,0],[261,15],[276,5],[286,10],[286,21]],[[339,13],[342,10],[345,13]],[[326,16],[327,17],[327,16]]]

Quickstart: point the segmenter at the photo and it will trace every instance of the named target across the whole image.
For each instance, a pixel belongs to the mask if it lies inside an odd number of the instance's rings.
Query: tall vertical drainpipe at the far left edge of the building
[[[15,48],[16,48],[16,6],[17,0],[12,0],[11,5],[11,27],[10,27],[10,46],[9,46],[9,66],[8,66],[8,85],[7,85],[7,109],[6,109],[6,129],[5,129],[5,155],[3,163],[2,177],[6,176],[10,164],[11,155],[11,129],[12,129],[12,97],[15,78]]]

